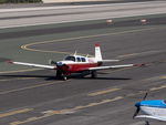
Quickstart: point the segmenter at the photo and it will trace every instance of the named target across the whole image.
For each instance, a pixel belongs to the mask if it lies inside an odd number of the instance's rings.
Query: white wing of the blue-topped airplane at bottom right
[[[135,116],[135,118],[141,118],[141,119],[157,119],[157,121],[165,121],[166,122],[166,117],[164,116],[152,116],[152,115],[137,115]]]

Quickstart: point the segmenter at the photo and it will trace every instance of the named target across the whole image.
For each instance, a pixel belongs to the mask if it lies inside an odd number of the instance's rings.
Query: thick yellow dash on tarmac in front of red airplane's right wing
[[[111,92],[115,92],[120,90],[121,88],[110,88],[110,90],[98,91],[98,92],[90,93],[87,94],[87,96],[97,96],[97,95],[102,95],[102,94],[106,94],[106,93],[111,93]]]

